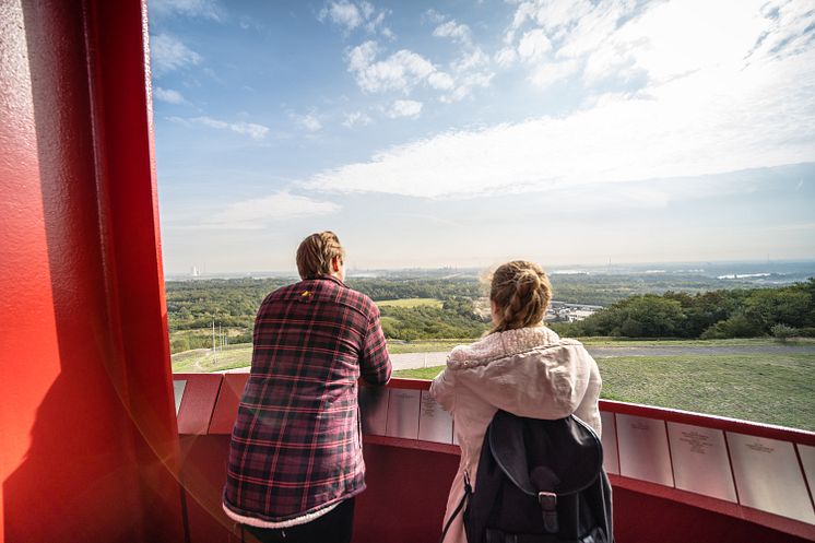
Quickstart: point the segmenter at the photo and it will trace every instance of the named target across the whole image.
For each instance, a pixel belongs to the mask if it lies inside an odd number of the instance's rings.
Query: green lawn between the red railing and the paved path
[[[815,355],[631,356],[598,361],[602,398],[815,430]],[[433,379],[442,367],[398,377]]]

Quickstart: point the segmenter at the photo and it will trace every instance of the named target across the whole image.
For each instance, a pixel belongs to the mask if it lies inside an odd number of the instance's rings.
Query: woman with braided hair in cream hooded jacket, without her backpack
[[[430,393],[453,416],[461,463],[447,499],[445,523],[464,495],[464,477],[479,484],[476,468],[484,434],[496,411],[531,418],[574,414],[600,435],[600,373],[583,345],[560,339],[543,317],[552,300],[546,274],[534,262],[515,260],[493,274],[493,329],[471,345],[459,345]],[[465,543],[462,515],[445,543]]]

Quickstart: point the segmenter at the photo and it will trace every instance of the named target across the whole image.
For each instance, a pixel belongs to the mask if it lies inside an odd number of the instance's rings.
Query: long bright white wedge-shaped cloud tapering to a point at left
[[[811,162],[815,49],[716,63],[560,118],[442,133],[324,170],[309,188],[442,198],[593,187]],[[641,192],[641,191],[640,191]],[[641,192],[647,196],[647,192]]]

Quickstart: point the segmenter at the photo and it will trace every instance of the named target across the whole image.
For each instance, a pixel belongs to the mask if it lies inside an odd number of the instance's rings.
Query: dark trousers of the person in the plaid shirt
[[[292,528],[255,528],[243,524],[245,543],[351,543],[354,531],[354,501],[345,499],[311,522]]]

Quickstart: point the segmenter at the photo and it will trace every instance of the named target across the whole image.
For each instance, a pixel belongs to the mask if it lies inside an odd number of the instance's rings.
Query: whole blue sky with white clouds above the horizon
[[[149,8],[169,273],[815,258],[811,2]]]

